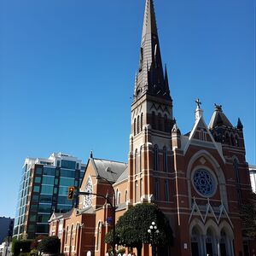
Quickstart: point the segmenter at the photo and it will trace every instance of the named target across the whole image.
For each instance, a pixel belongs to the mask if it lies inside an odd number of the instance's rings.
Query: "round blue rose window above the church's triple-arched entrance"
[[[215,189],[214,178],[212,174],[204,169],[198,169],[194,173],[193,183],[195,189],[205,196],[212,195]]]

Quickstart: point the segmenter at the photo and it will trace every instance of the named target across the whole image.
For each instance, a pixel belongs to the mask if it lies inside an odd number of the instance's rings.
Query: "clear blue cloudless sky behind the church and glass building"
[[[255,158],[255,0],[155,0],[174,116],[201,99],[244,125]],[[127,161],[143,0],[0,1],[0,216],[15,216],[26,157]]]

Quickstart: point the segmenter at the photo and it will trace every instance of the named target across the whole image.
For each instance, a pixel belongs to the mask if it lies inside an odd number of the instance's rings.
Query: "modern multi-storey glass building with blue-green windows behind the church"
[[[51,154],[49,159],[27,158],[22,170],[15,214],[14,237],[48,235],[52,212],[67,212],[76,207],[78,197],[67,200],[68,187],[79,186],[85,165],[68,154]]]

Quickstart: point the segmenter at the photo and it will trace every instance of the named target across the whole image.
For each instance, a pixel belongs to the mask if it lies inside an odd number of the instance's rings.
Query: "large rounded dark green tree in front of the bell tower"
[[[155,222],[159,233],[150,236],[148,229]],[[107,243],[113,241],[111,230],[105,237]],[[131,207],[116,224],[115,242],[126,247],[136,247],[137,255],[141,256],[143,244],[158,247],[172,245],[172,229],[165,214],[152,203],[138,204]]]

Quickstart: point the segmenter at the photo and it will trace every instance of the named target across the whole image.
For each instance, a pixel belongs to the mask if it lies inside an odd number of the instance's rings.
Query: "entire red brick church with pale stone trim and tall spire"
[[[154,3],[147,0],[131,104],[128,164],[90,154],[80,191],[111,198],[109,183],[113,184],[116,220],[136,204],[157,204],[174,236],[165,256],[253,256],[256,247],[241,230],[241,204],[251,191],[241,121],[232,125],[222,106],[215,105],[207,125],[197,100],[191,126],[188,134],[182,134],[173,118]],[[113,228],[112,215],[104,199],[80,195],[78,208],[53,213],[49,235],[61,238],[65,255],[102,256],[109,248],[104,236]],[[150,255],[151,247],[144,245],[143,256]]]

